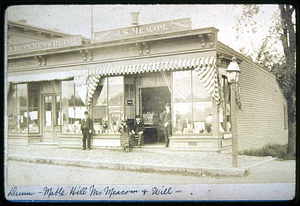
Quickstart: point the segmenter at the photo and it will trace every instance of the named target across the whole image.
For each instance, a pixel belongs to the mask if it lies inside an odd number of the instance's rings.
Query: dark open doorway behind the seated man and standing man
[[[145,123],[144,144],[164,142],[159,114],[164,111],[166,102],[171,103],[168,87],[151,87],[140,90],[140,114]],[[160,138],[159,138],[160,137]]]

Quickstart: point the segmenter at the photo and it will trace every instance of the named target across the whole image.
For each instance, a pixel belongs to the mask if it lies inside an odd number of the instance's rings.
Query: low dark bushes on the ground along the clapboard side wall
[[[249,155],[249,156],[258,156],[258,157],[265,157],[265,156],[272,156],[277,157],[283,160],[294,160],[295,156],[288,154],[288,145],[280,145],[280,144],[267,144],[263,148],[260,149],[252,149],[252,150],[245,150],[240,152],[241,155]]]

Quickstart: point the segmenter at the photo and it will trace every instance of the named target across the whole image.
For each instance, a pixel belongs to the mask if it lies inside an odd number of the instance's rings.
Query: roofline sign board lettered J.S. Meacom
[[[95,42],[105,42],[132,37],[147,36],[153,34],[163,34],[175,31],[192,29],[191,18],[177,19],[171,21],[144,24],[121,29],[101,31],[94,33]]]

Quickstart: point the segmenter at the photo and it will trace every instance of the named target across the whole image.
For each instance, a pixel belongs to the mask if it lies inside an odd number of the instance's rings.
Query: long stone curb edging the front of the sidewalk
[[[17,155],[9,155],[8,160],[39,163],[39,164],[54,164],[67,166],[80,166],[89,168],[101,168],[112,170],[128,170],[139,172],[170,172],[186,175],[197,176],[244,176],[247,170],[244,168],[199,168],[199,167],[180,167],[180,166],[163,166],[163,165],[146,165],[146,164],[127,164],[114,162],[99,162],[87,160],[72,160],[47,157],[24,157]]]

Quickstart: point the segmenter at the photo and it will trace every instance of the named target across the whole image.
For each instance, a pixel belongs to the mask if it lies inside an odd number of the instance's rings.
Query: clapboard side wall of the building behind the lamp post
[[[242,111],[237,111],[238,150],[261,148],[269,143],[286,144],[286,100],[275,76],[221,43],[218,51],[243,60],[239,78]]]

